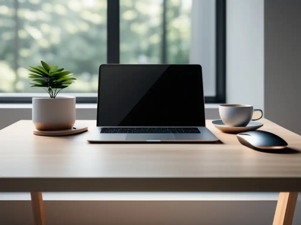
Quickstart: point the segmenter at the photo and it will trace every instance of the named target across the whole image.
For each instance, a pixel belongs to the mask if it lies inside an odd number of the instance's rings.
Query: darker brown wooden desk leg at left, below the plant
[[[42,192],[30,192],[34,225],[45,225],[44,202]]]

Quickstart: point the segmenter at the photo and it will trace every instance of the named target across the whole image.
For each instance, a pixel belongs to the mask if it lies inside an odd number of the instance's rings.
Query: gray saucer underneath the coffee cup
[[[222,122],[221,119],[212,121],[213,125],[222,132],[238,134],[245,131],[254,131],[262,127],[263,124],[255,121],[250,121],[250,123],[245,127],[229,127]]]

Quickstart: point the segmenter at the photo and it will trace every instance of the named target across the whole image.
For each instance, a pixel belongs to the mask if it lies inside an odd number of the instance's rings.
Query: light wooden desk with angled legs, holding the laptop
[[[31,121],[19,121],[0,131],[0,191],[31,192],[36,225],[45,224],[42,191],[277,191],[273,225],[292,224],[301,191],[301,136],[260,121],[297,153],[247,148],[209,120],[223,144],[89,144],[88,133],[35,136]]]

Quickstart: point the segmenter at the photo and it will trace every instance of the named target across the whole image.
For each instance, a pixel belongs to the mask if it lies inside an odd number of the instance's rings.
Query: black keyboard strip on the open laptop
[[[102,128],[102,134],[200,134],[198,128]]]

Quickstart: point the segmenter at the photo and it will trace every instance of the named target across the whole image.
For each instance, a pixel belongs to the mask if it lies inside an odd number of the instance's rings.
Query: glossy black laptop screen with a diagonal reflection
[[[104,64],[98,126],[205,126],[200,65]]]

